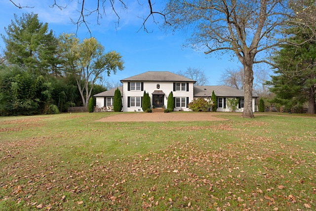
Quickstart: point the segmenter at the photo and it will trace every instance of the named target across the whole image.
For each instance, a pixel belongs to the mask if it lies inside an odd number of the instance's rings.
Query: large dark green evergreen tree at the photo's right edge
[[[270,102],[288,109],[308,102],[308,113],[316,113],[316,43],[305,41],[309,35],[304,30],[295,27],[286,31],[287,35],[295,34],[288,41],[298,45],[284,44],[275,53],[277,69],[268,85],[273,86],[270,91],[276,97]]]

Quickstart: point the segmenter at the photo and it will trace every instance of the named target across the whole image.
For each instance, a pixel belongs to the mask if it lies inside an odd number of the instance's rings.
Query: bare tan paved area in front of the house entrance
[[[99,122],[178,122],[178,121],[224,121],[227,119],[215,117],[212,112],[200,113],[118,113],[97,121]]]

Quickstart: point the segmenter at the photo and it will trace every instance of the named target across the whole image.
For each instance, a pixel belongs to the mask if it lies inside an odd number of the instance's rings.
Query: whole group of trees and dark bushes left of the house
[[[105,52],[94,37],[56,37],[37,14],[15,15],[4,30],[0,115],[55,112],[51,105],[62,112],[69,106],[87,106],[90,96],[106,90],[96,80],[124,69],[119,53]]]

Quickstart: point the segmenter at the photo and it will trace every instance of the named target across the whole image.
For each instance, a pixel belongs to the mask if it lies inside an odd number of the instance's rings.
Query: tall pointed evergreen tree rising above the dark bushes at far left
[[[5,57],[10,64],[26,67],[34,75],[45,75],[56,70],[57,39],[48,24],[39,21],[37,14],[25,14],[4,28],[7,36],[1,35],[5,43]]]

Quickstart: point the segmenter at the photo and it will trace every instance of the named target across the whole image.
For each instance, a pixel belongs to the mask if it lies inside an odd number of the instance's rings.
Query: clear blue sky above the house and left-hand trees
[[[6,35],[4,27],[7,27],[11,20],[14,20],[14,13],[18,17],[22,13],[39,14],[39,20],[47,22],[50,30],[55,35],[64,33],[76,33],[77,26],[71,23],[70,18],[78,18],[80,5],[77,0],[57,0],[60,5],[67,5],[65,9],[58,9],[56,6],[50,8],[53,0],[13,0],[21,6],[28,5],[33,8],[19,9],[9,0],[0,2],[0,34]],[[164,33],[159,30],[159,24],[149,19],[146,22],[146,28],[151,33],[144,32],[142,27],[143,20],[139,17],[145,17],[149,13],[147,0],[143,0],[144,5],[140,5],[137,0],[130,0],[127,3],[128,9],[123,11],[119,8],[119,25],[115,14],[111,10],[106,11],[106,16],[100,19],[100,25],[97,25],[96,15],[93,14],[88,19],[89,29],[104,47],[106,51],[115,50],[119,52],[124,60],[125,69],[118,71],[116,75],[106,77],[106,80],[118,82],[120,79],[130,77],[146,71],[185,71],[188,68],[199,68],[204,71],[208,77],[207,85],[217,85],[222,72],[226,69],[238,69],[241,67],[237,58],[231,59],[230,55],[205,55],[203,50],[194,51],[192,48],[183,47],[185,40],[190,35],[183,33]],[[157,0],[154,4],[154,10],[158,10],[162,3]],[[159,16],[156,20],[161,23]],[[84,25],[79,27],[77,35],[82,40],[90,37],[87,28]],[[2,39],[0,47],[4,48]]]

